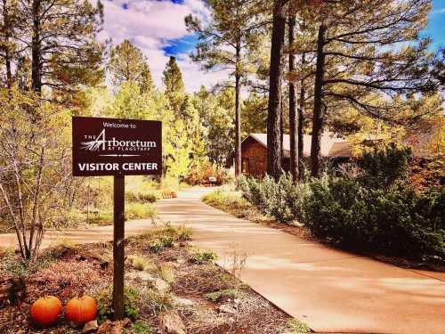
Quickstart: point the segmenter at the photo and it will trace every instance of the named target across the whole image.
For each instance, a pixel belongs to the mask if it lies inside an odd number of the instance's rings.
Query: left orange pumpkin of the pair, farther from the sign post
[[[57,318],[63,311],[61,301],[54,296],[38,298],[33,305],[29,314],[33,322],[40,326],[51,326],[57,322]]]

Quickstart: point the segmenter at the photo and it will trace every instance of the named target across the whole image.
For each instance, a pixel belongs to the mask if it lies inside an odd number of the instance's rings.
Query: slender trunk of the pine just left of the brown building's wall
[[[237,43],[235,73],[235,177],[241,174],[241,73],[239,62],[241,60],[241,41]],[[238,184],[238,182],[237,182]]]

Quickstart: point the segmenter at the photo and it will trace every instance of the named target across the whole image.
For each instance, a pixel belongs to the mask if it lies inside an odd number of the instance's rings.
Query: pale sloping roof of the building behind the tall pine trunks
[[[256,142],[261,143],[267,148],[267,134],[249,134]],[[247,137],[247,138],[248,138]],[[246,139],[247,139],[246,138]],[[246,140],[245,139],[245,140]],[[303,156],[311,156],[312,136],[309,134],[303,135]],[[283,151],[284,156],[290,155],[290,137],[288,134],[283,135]],[[320,155],[326,158],[350,158],[352,156],[349,143],[343,138],[339,138],[333,133],[324,133],[321,135],[320,141]]]

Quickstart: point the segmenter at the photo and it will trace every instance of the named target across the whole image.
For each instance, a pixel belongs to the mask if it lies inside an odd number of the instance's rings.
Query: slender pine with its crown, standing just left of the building
[[[255,30],[263,23],[255,21],[262,2],[254,0],[211,0],[211,22],[203,27],[198,18],[185,18],[187,28],[197,32],[199,43],[192,59],[204,69],[231,69],[235,87],[235,176],[241,168],[241,86],[247,75],[247,48],[255,45]]]

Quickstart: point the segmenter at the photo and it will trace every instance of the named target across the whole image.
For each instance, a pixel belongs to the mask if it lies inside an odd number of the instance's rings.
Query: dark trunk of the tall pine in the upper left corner
[[[42,92],[42,42],[40,40],[40,9],[41,0],[34,0],[32,4],[32,41],[31,41],[31,53],[32,53],[32,71],[31,71],[31,88],[37,94]]]

